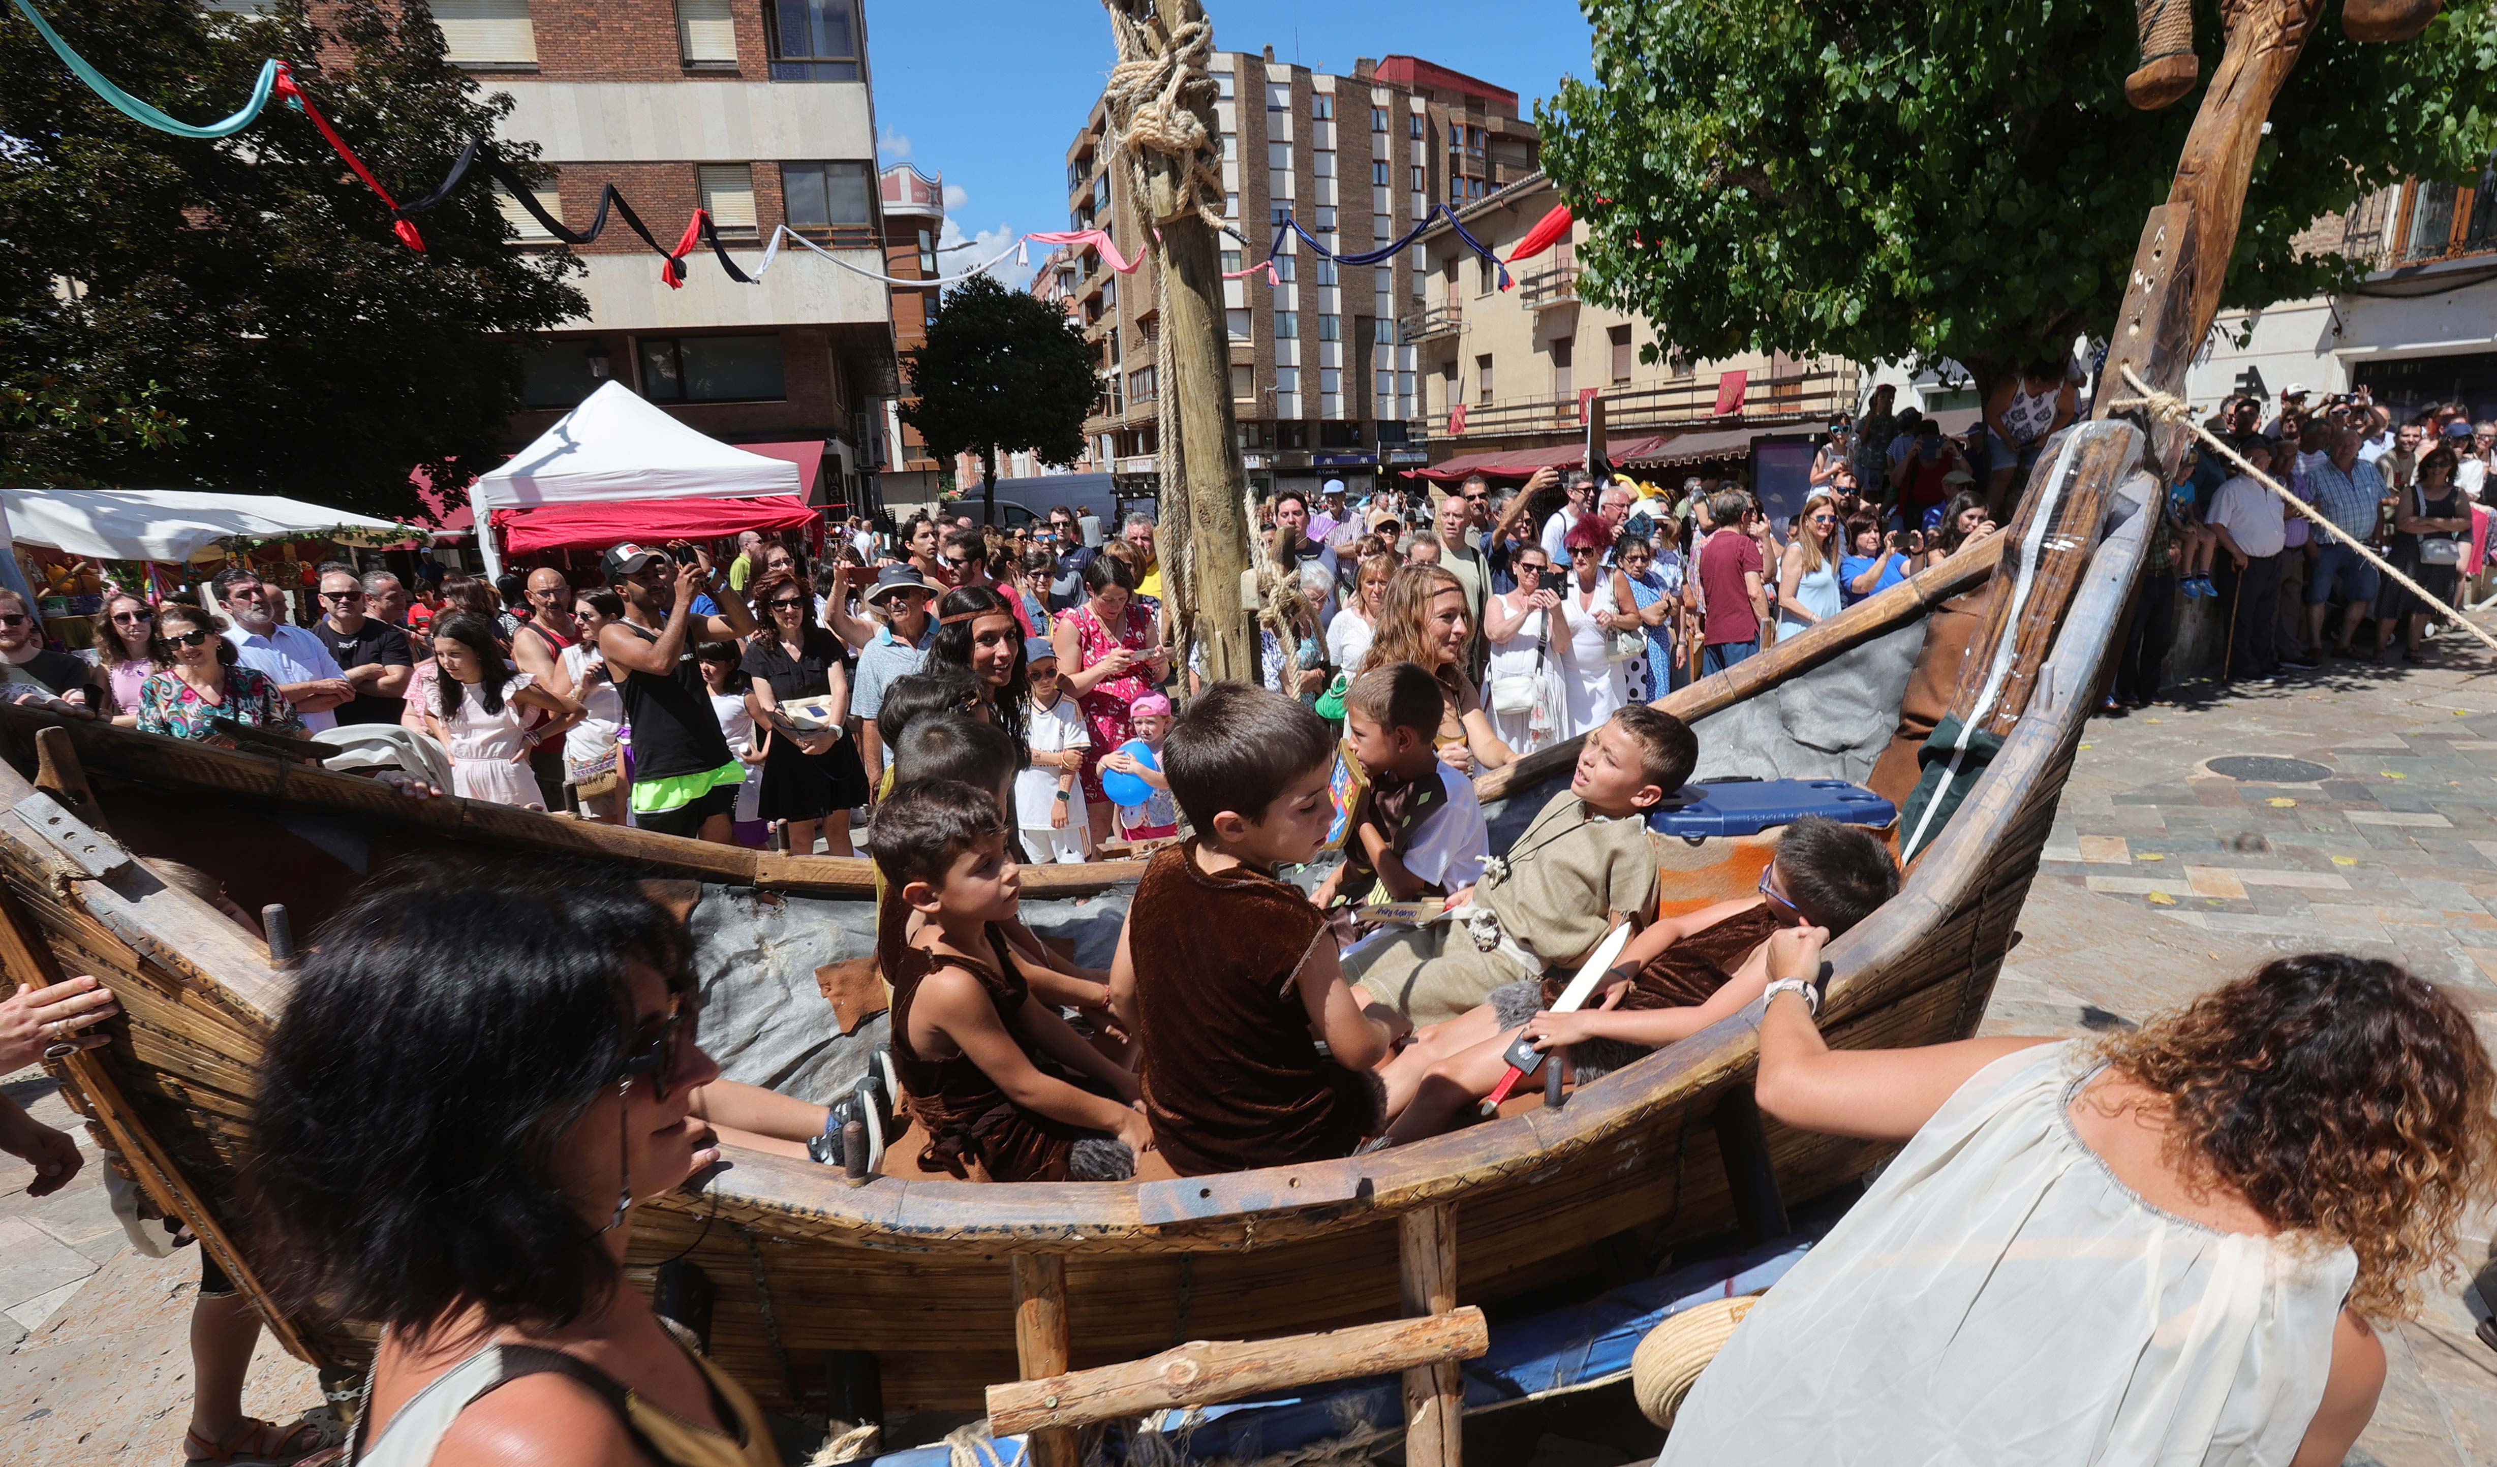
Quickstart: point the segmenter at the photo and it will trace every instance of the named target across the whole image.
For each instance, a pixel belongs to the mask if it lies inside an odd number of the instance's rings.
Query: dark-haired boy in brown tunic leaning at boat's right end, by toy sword
[[[1760,896],[1720,901],[1651,923],[1621,951],[1586,1008],[1553,1013],[1566,978],[1506,983],[1473,1013],[1421,1030],[1383,1068],[1388,1143],[1436,1135],[1508,1073],[1523,1033],[1538,1053],[1568,1048],[1578,1083],[1738,1013],[1768,988],[1768,936],[1828,928],[1835,938],[1898,893],[1898,863],[1880,836],[1805,816],[1785,828],[1760,873]]]

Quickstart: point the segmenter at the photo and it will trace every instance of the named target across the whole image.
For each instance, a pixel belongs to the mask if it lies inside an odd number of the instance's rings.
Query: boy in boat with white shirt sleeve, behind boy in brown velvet
[[[1376,906],[1446,898],[1473,886],[1491,856],[1473,781],[1438,758],[1438,679],[1418,664],[1373,666],[1343,691],[1343,736],[1368,776],[1343,863],[1311,901]]]

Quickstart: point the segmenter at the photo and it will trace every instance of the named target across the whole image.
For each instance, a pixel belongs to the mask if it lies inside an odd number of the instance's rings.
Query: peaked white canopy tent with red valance
[[[674,539],[652,526],[667,516],[682,524],[692,514],[687,501],[782,499],[784,504],[774,514],[794,511],[797,519],[769,524],[807,524],[814,511],[804,506],[802,489],[799,467],[789,459],[722,444],[652,407],[622,382],[609,382],[557,419],[534,444],[512,454],[512,462],[477,479],[469,489],[469,509],[482,526],[477,549],[484,551],[487,576],[499,576],[504,549],[532,549],[517,539],[532,519],[539,529],[529,534],[559,536],[539,539],[534,549],[589,544],[577,539],[584,534],[582,524],[599,524],[602,531],[614,529],[604,544]],[[674,506],[652,509],[649,501],[674,501]],[[587,511],[599,511],[599,519],[569,519]],[[537,519],[547,514],[554,519]],[[749,521],[699,534],[762,526]],[[694,539],[694,534],[684,534],[684,539]]]

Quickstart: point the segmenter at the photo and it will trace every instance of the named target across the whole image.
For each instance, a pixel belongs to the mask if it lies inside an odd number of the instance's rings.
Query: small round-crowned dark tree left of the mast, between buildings
[[[979,454],[979,496],[996,521],[996,457],[1066,464],[1084,454],[1084,414],[1101,397],[1101,367],[1084,327],[1064,309],[994,277],[944,292],[926,342],[904,354],[911,402],[901,422],[936,459]]]

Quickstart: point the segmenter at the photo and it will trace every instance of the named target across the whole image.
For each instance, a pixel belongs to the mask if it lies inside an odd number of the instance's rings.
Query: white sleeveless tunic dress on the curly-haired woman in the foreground
[[[2070,1045],[1978,1070],[1708,1365],[1658,1467],[2285,1467],[2357,1257],[2150,1208]]]

